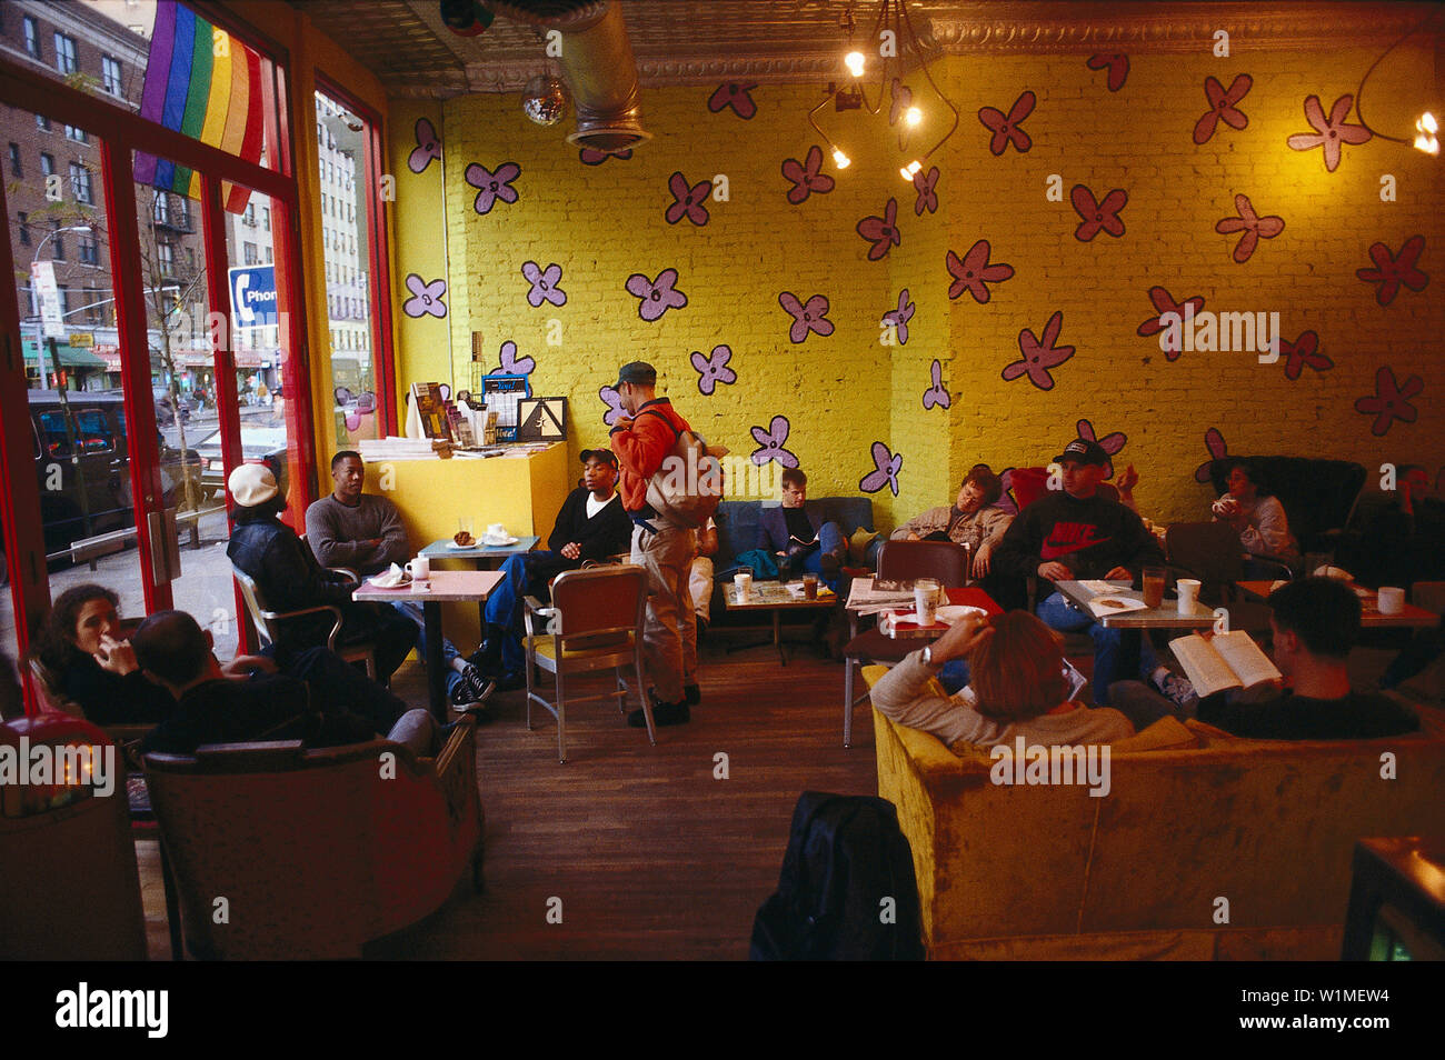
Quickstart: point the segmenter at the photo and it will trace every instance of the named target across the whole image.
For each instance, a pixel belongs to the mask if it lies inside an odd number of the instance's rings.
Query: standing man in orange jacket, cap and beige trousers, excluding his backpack
[[[617,397],[626,416],[613,426],[611,446],[621,465],[623,507],[633,521],[631,562],[647,570],[647,624],[643,660],[652,677],[652,716],[657,725],[689,721],[699,699],[696,674],[685,673],[683,644],[696,638],[696,615],[688,595],[692,531],[669,523],[647,504],[647,481],[662,469],[678,435],[691,430],[666,397],[657,397],[657,371],[646,361],[617,373]],[[696,660],[691,660],[696,664]],[[642,711],[627,724],[646,725]]]

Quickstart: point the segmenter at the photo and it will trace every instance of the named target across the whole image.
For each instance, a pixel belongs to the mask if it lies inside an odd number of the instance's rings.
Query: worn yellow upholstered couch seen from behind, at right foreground
[[[929,957],[1335,960],[1355,839],[1445,836],[1445,721],[1422,715],[1420,734],[1348,742],[1168,719],[1113,750],[1091,797],[996,786],[987,754],[874,711]]]

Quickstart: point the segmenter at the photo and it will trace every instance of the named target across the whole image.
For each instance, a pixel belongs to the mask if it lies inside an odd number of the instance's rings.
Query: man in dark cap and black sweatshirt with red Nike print
[[[1043,582],[1139,578],[1140,568],[1163,565],[1159,544],[1139,516],[1098,495],[1108,453],[1082,438],[1053,458],[1064,488],[1019,513],[998,543],[994,569],[1040,579],[1038,615],[1055,630],[1087,630],[1094,640],[1094,705],[1108,705],[1108,686],[1139,672],[1139,631],[1105,628]]]

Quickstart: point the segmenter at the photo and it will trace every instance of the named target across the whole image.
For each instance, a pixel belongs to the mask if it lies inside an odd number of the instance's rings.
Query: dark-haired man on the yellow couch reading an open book
[[[1259,680],[1259,660],[1240,651],[1243,644],[1228,634],[1212,659],[1192,644],[1181,644],[1176,654],[1196,677],[1208,680],[1205,690],[1220,683],[1233,689],[1199,698],[1191,682],[1170,677],[1165,698],[1142,682],[1117,682],[1110,703],[1137,729],[1173,713],[1254,739],[1371,739],[1419,728],[1419,718],[1402,703],[1350,687],[1345,659],[1360,633],[1354,592],[1329,578],[1302,578],[1270,594],[1269,607],[1282,680]],[[1256,654],[1261,656],[1257,648]],[[1221,661],[1238,680],[1221,682],[1209,673]]]

